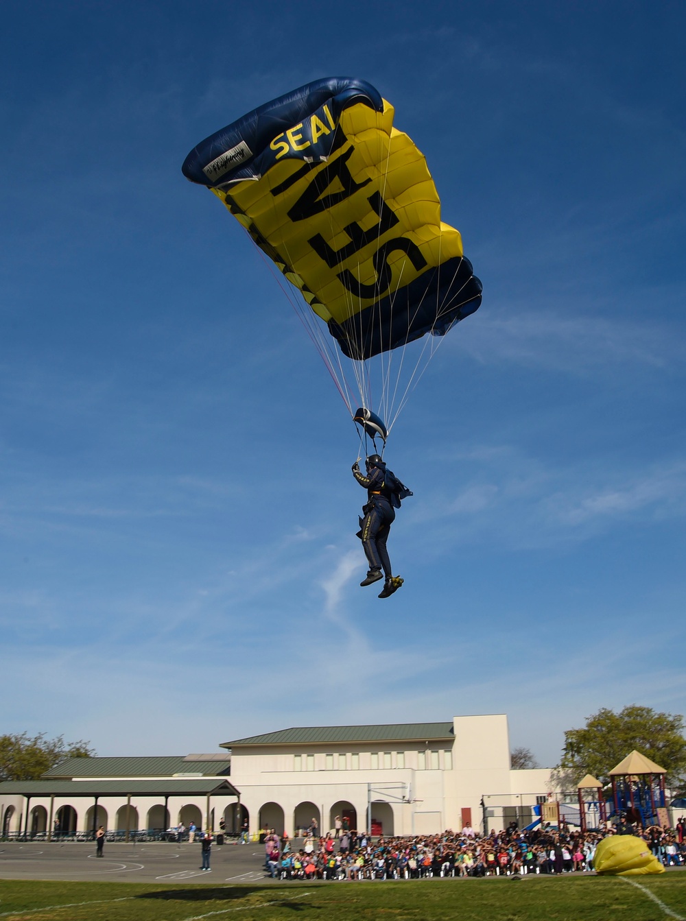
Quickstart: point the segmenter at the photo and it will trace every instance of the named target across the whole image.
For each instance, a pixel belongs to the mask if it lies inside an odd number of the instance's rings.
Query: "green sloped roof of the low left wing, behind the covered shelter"
[[[186,755],[130,758],[65,758],[43,774],[49,778],[71,777],[170,777],[175,774],[202,774],[216,777],[230,774],[231,760],[193,760]],[[221,758],[221,755],[220,755]]]

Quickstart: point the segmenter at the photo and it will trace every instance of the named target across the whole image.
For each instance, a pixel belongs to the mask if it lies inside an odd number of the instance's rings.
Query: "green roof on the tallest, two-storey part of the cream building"
[[[300,726],[265,732],[222,742],[222,748],[240,745],[315,745],[323,742],[428,741],[453,740],[452,721],[448,723],[390,723],[376,726]]]

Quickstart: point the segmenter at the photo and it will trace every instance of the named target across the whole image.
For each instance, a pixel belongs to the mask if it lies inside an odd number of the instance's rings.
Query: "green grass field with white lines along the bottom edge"
[[[665,921],[686,918],[686,874],[617,878],[281,883],[212,887],[0,881],[0,919],[41,921]],[[650,898],[652,893],[657,901]],[[661,904],[658,904],[661,903]]]

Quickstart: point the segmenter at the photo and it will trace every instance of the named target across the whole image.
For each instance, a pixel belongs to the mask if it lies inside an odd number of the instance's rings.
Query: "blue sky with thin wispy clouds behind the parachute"
[[[600,706],[682,713],[684,6],[4,20],[0,732],[173,753],[506,712],[554,764]],[[394,104],[484,286],[393,429],[386,601],[358,588],[343,403],[180,173],[339,75]]]

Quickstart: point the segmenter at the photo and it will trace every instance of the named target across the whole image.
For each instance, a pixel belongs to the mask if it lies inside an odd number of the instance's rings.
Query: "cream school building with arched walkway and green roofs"
[[[68,758],[41,780],[0,784],[4,834],[164,833],[183,822],[291,836],[335,817],[372,834],[520,825],[549,769],[512,770],[505,714],[445,722],[279,729],[176,757]],[[514,812],[512,810],[515,810]],[[314,820],[314,822],[313,822]],[[55,825],[57,822],[57,825]]]

